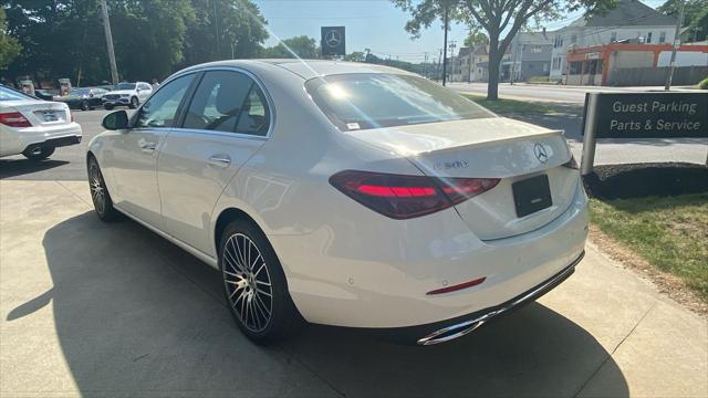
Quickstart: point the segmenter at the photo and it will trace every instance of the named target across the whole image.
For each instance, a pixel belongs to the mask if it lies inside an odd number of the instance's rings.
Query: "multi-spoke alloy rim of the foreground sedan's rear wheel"
[[[253,333],[271,322],[273,286],[260,250],[242,233],[235,233],[223,248],[223,283],[229,304],[241,324]]]

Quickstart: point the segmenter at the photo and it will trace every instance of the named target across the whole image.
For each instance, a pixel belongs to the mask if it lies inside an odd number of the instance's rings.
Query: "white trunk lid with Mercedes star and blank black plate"
[[[407,157],[440,178],[498,178],[455,206],[481,240],[508,238],[551,222],[570,206],[577,174],[562,132],[502,117],[347,133]]]

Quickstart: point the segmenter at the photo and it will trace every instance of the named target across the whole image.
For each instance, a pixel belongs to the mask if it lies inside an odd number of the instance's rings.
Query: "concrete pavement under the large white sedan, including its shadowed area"
[[[435,347],[323,326],[246,341],[219,275],[86,182],[0,181],[0,395],[708,396],[706,320],[587,248],[539,303]]]

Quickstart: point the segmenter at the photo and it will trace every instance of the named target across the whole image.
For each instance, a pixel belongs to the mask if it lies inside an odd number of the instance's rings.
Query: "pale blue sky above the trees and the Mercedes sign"
[[[412,40],[404,27],[409,17],[388,0],[253,0],[268,20],[271,38],[266,45],[274,45],[278,39],[309,35],[320,40],[321,27],[346,28],[346,52],[364,51],[368,48],[382,57],[398,57],[402,61],[423,62],[425,53],[428,60],[437,60],[442,48],[441,22],[434,23],[423,31],[419,39]],[[644,1],[647,6],[658,7],[664,0]],[[564,15],[562,20],[549,21],[549,31],[580,18],[582,12]],[[448,41],[456,41],[457,49],[462,45],[468,28],[452,24]],[[457,50],[455,50],[457,53]]]

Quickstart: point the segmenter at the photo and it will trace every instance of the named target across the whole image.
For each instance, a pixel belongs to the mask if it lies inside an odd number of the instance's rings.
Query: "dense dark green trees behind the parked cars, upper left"
[[[97,0],[0,0],[0,4],[7,10],[8,33],[23,49],[3,75],[54,82],[70,77],[74,85],[111,80]],[[253,57],[268,39],[266,20],[249,0],[107,0],[107,4],[121,78],[162,80],[185,65],[232,55]]]

